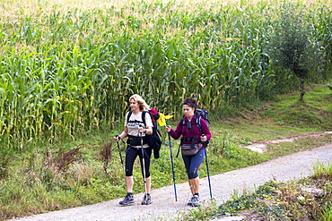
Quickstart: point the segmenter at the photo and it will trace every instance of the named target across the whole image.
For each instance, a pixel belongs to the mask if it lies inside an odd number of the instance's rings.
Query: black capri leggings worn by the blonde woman
[[[144,177],[144,169],[143,169],[143,155],[142,150],[144,152],[144,166],[145,166],[145,177]],[[142,170],[142,176],[144,178],[150,177],[150,158],[153,150],[151,148],[132,148],[130,146],[126,149],[126,176],[132,176],[133,175],[133,168],[134,168],[134,162],[135,158],[139,156],[140,162],[141,162],[141,170]]]

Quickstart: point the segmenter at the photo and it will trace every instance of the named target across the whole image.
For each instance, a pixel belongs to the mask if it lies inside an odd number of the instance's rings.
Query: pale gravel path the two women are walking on
[[[292,180],[308,176],[312,172],[312,166],[318,161],[324,164],[332,162],[332,143],[325,146],[301,151],[292,155],[278,157],[265,163],[233,170],[224,174],[210,177],[213,197],[218,204],[223,200],[229,200],[233,190],[248,190],[271,179],[276,181]],[[202,164],[205,169],[205,162]],[[209,199],[207,178],[201,179],[201,200]],[[135,205],[122,207],[117,200],[109,200],[80,208],[68,208],[64,210],[39,214],[31,217],[22,217],[11,220],[22,221],[53,221],[53,220],[171,220],[178,217],[190,198],[188,183],[177,184],[178,201],[175,201],[173,185],[165,186],[151,192],[153,204],[140,205],[144,193],[135,194]]]

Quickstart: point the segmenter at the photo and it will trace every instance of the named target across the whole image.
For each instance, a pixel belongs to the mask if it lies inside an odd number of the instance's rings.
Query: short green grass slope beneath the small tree
[[[305,101],[296,93],[281,95],[275,102],[262,103],[243,110],[237,117],[224,119],[221,128],[241,134],[250,141],[272,140],[331,128],[331,91],[311,86]],[[220,122],[218,122],[220,123]]]

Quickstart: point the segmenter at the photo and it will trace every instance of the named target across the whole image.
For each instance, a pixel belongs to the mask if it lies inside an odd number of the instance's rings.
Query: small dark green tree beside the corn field
[[[310,25],[302,15],[293,4],[284,4],[269,46],[273,63],[301,79],[300,101],[305,94],[304,81],[309,74],[318,73],[324,61],[324,52],[312,38]]]

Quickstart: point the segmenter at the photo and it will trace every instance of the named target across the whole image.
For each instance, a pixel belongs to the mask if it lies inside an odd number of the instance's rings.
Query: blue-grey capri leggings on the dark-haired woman
[[[194,156],[183,156],[183,161],[187,169],[188,179],[195,179],[198,177],[198,168],[202,164],[203,158],[205,157],[205,149],[199,149],[197,154]]]

